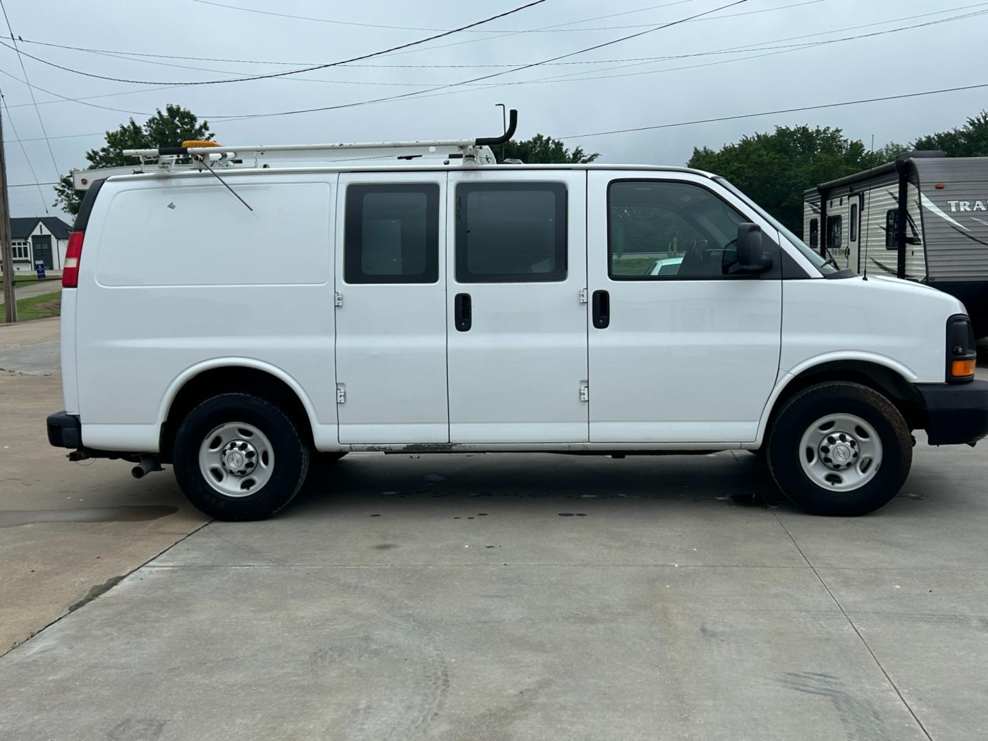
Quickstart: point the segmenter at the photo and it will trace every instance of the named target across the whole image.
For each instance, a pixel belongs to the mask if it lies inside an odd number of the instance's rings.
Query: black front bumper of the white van
[[[917,383],[932,446],[976,443],[988,436],[988,380]]]

